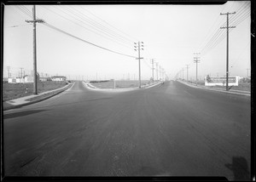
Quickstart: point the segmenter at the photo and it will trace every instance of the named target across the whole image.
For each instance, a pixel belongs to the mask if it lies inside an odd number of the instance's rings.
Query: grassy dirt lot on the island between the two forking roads
[[[148,80],[142,80],[142,85],[147,84]],[[95,86],[96,88],[113,88],[113,81],[109,82],[94,82],[90,83],[91,85]],[[138,81],[122,81],[117,80],[115,81],[115,88],[136,88],[138,87]]]

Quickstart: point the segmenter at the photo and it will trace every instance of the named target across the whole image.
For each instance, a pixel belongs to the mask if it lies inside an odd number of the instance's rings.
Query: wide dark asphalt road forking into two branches
[[[122,93],[76,82],[4,112],[4,173],[249,179],[250,115],[250,97],[174,81]]]

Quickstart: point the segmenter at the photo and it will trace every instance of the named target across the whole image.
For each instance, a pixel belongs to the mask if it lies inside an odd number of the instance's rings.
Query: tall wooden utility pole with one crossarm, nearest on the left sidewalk
[[[25,20],[26,23],[33,23],[33,78],[34,78],[34,85],[33,85],[33,94],[38,94],[38,79],[37,79],[37,23],[44,23],[44,20],[37,20],[36,19],[36,5],[33,5],[32,9],[33,13],[33,20]]]

